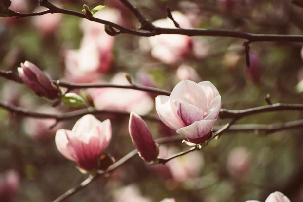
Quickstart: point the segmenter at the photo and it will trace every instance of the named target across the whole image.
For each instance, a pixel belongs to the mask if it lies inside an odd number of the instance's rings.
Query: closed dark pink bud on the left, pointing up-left
[[[60,90],[51,80],[33,63],[25,61],[18,67],[19,75],[24,84],[41,97],[54,100],[59,97]]]

